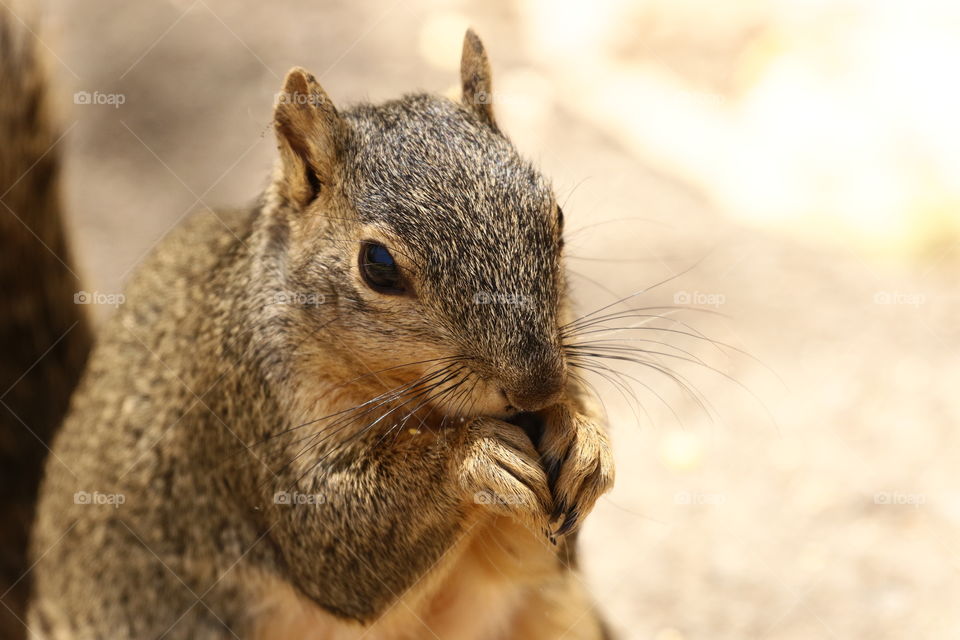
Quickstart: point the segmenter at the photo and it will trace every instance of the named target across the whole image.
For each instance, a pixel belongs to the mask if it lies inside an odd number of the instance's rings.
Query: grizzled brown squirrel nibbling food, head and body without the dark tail
[[[565,350],[563,214],[473,31],[461,80],[338,109],[287,73],[262,196],[174,230],[98,332],[33,637],[610,637],[577,571],[614,465]]]

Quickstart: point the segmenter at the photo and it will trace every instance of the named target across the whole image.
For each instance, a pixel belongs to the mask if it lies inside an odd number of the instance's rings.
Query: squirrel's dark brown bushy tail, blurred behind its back
[[[74,304],[39,43],[0,4],[0,637],[20,638],[37,487],[91,334]]]

